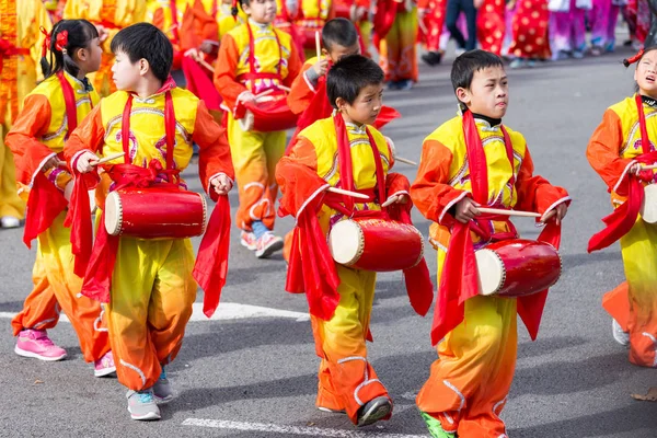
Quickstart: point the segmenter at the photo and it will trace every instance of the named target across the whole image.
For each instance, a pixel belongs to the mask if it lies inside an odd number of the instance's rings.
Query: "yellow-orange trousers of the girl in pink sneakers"
[[[12,320],[13,334],[23,328],[53,328],[64,311],[80,341],[88,362],[110,350],[107,328],[102,321],[97,301],[80,295],[82,279],[73,274],[70,229],[64,227],[61,212],[49,229],[38,235],[36,261],[32,273],[34,289],[25,299],[23,310]]]

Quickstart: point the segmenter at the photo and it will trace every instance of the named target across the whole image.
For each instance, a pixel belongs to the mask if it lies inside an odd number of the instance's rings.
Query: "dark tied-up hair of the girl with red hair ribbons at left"
[[[60,47],[57,43],[57,37],[62,32],[67,33],[67,44],[65,47]],[[79,48],[89,48],[93,38],[97,37],[99,31],[87,20],[61,20],[55,24],[55,27],[50,31],[50,39],[44,42],[50,50],[49,61],[45,56],[41,59],[44,78],[48,78],[61,70],[77,77],[80,72],[80,67],[73,60],[73,54]]]

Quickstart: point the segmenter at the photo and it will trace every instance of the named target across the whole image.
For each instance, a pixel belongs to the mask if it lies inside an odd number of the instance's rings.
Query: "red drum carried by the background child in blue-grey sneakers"
[[[295,128],[299,115],[290,111],[285,96],[276,100],[267,100],[267,97],[269,96],[264,96],[257,104],[238,103],[235,118],[239,120],[240,127],[246,131],[258,132]]]

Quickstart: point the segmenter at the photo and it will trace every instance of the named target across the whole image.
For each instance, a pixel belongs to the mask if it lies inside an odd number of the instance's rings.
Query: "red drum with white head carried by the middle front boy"
[[[424,255],[424,240],[412,224],[356,218],[333,226],[328,249],[341,265],[383,273],[417,265]]]

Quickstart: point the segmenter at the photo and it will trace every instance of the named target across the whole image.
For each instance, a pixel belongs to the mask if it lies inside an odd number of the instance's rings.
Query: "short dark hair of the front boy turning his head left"
[[[158,27],[137,23],[120,30],[112,39],[112,53],[122,51],[131,64],[146,59],[155,78],[164,82],[173,64],[173,46]]]

